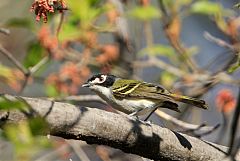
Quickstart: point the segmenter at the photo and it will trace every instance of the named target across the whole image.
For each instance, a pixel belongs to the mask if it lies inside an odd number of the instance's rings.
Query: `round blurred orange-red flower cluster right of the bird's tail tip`
[[[232,91],[228,89],[219,91],[216,97],[216,105],[218,109],[224,113],[231,112],[236,106],[236,99]]]

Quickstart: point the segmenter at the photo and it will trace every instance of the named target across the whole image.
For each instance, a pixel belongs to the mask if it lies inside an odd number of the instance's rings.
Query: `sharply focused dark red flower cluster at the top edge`
[[[31,6],[30,11],[35,11],[36,21],[43,18],[43,22],[47,22],[47,13],[53,13],[55,9],[63,12],[66,9],[64,0],[35,0]]]

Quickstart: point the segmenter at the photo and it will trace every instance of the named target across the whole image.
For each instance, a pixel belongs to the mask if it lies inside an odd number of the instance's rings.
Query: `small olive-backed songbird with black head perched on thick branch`
[[[180,112],[175,102],[208,108],[203,100],[171,93],[160,85],[110,74],[96,74],[82,87],[92,89],[113,108],[130,116],[144,115],[158,107]]]

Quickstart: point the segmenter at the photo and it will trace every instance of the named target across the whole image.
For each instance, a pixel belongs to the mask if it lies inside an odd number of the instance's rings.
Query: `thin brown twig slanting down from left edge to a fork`
[[[5,55],[19,70],[21,70],[24,75],[29,74],[29,70],[26,69],[17,59],[13,57],[13,55],[7,51],[1,44],[0,44],[0,52]]]

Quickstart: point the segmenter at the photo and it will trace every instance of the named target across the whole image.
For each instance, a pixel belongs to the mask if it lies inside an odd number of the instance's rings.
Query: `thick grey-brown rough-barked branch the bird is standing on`
[[[13,96],[7,96],[13,98]],[[154,160],[214,160],[225,158],[227,147],[206,142],[167,128],[129,120],[119,114],[37,98],[23,98],[30,106],[28,116],[10,111],[1,123],[40,115],[49,124],[50,133],[66,139],[103,144]],[[0,111],[0,116],[4,114]],[[239,154],[237,160],[240,160]]]

